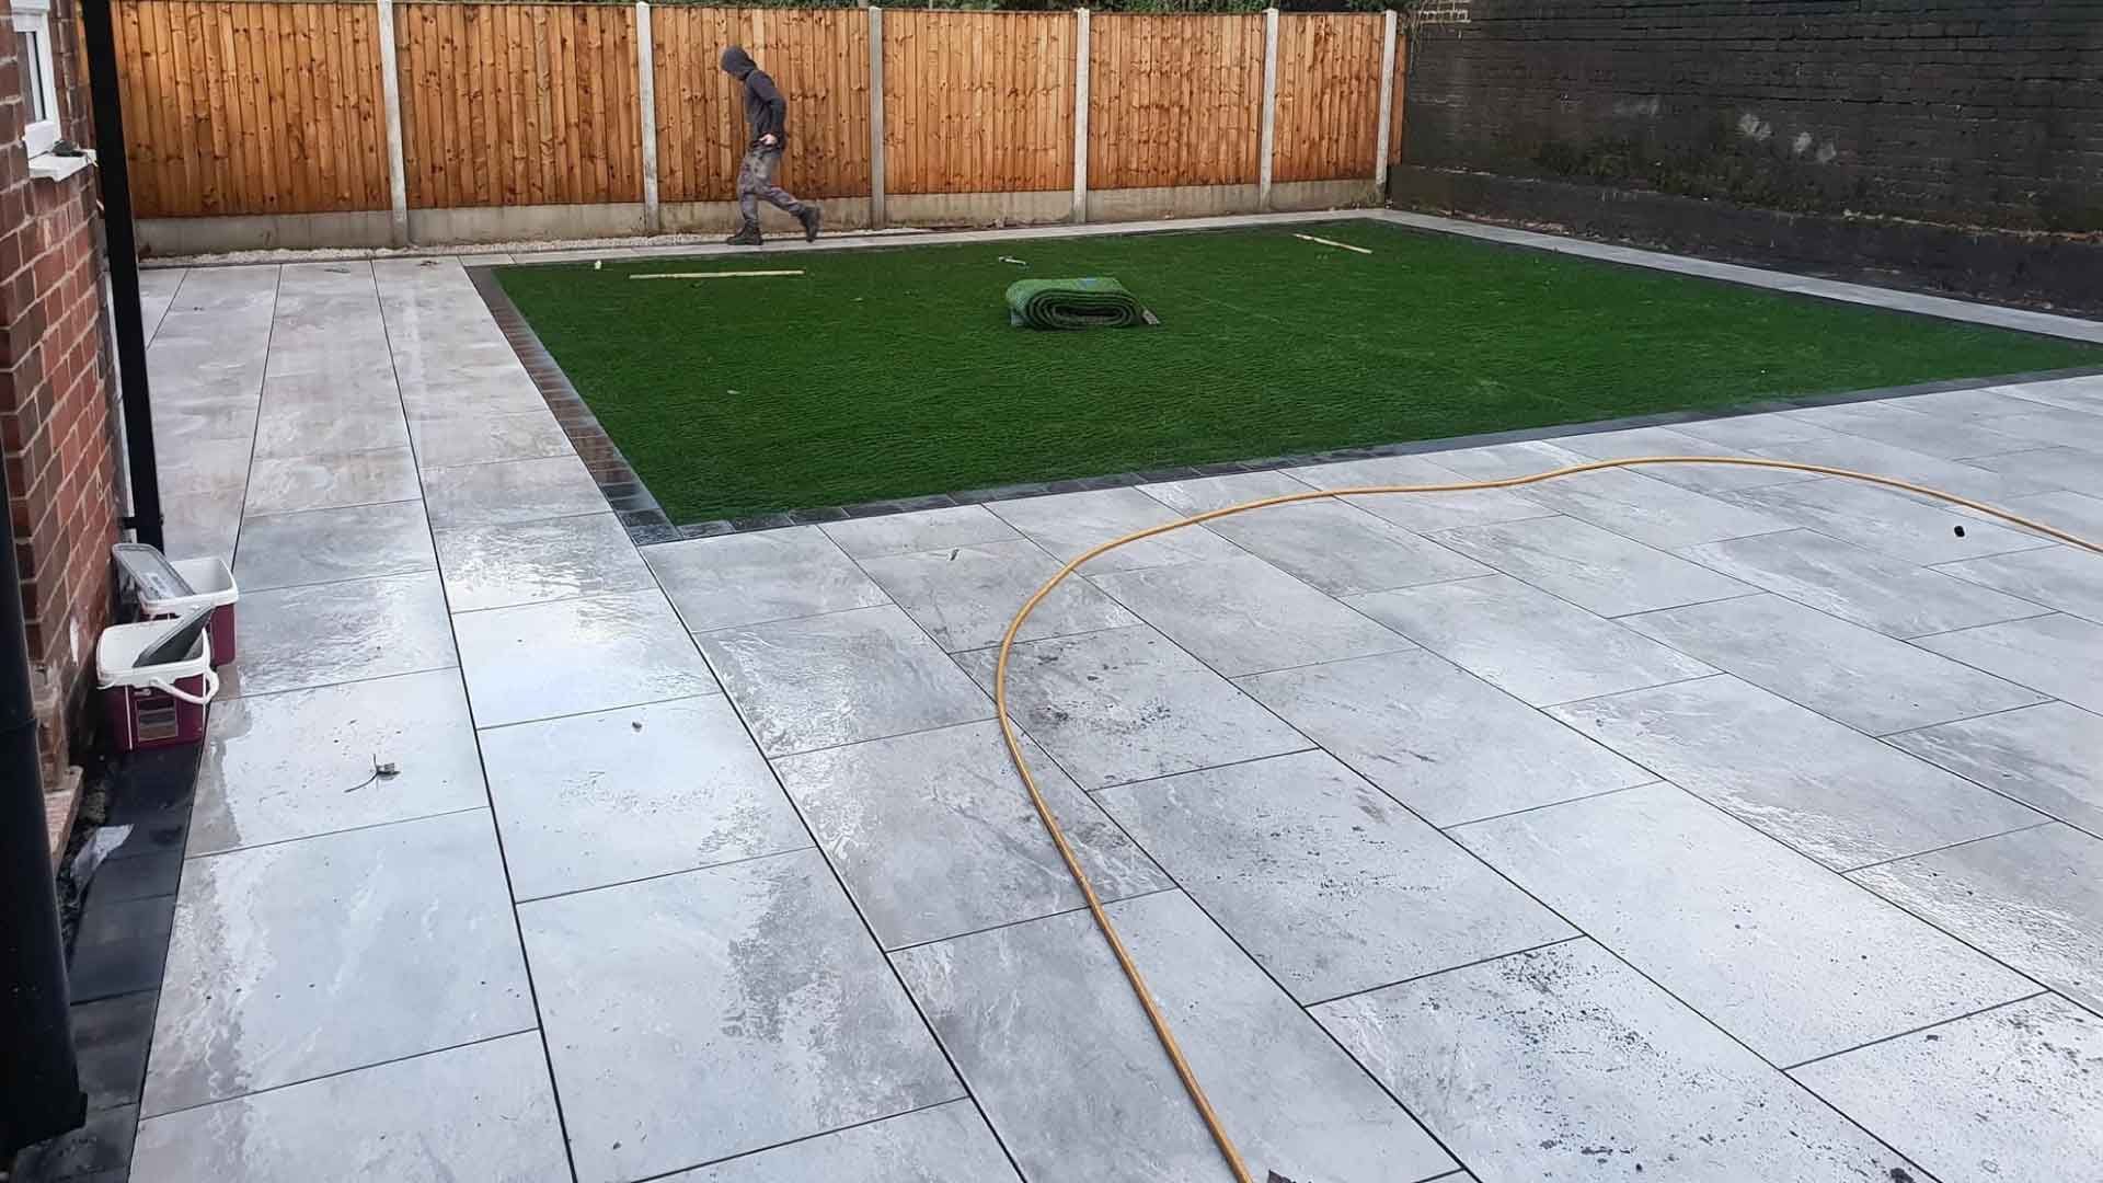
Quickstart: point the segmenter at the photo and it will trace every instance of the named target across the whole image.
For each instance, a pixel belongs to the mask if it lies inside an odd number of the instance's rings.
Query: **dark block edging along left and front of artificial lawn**
[[[1846,402],[1876,402],[1880,398],[1907,398],[1914,394],[1941,394],[1949,389],[1983,389],[1989,385],[2010,385],[2027,381],[2053,381],[2076,377],[2103,377],[2103,366],[2076,366],[2061,370],[2029,370],[2019,375],[1992,375],[1971,379],[1943,379],[1912,385],[1888,385],[1876,389],[1851,389],[1842,394],[1806,394],[1794,398],[1764,398],[1758,402],[1737,402],[1729,406],[1703,406],[1689,410],[1657,410],[1651,415],[1628,415],[1621,419],[1594,419],[1586,423],[1550,423],[1546,427],[1516,427],[1510,432],[1481,432],[1474,436],[1445,436],[1436,440],[1409,440],[1403,444],[1369,444],[1361,448],[1335,448],[1327,453],[1300,453],[1287,457],[1266,457],[1253,461],[1222,461],[1203,465],[1180,465],[1161,469],[1119,472],[1108,476],[1085,476],[1070,480],[1045,480],[1026,484],[999,484],[993,488],[967,488],[961,493],[932,493],[925,497],[896,497],[887,501],[862,501],[858,505],[826,505],[816,509],[789,509],[782,514],[755,514],[751,518],[723,518],[713,522],[673,524],[665,509],[650,497],[641,478],[620,457],[620,448],[606,436],[599,421],[585,406],[585,400],[570,385],[570,379],[540,345],[540,337],[526,324],[526,316],[511,303],[498,286],[492,267],[467,267],[475,280],[475,290],[490,305],[505,339],[526,362],[526,373],[534,377],[540,396],[562,419],[564,432],[585,455],[585,465],[599,482],[599,490],[614,503],[620,522],[629,528],[635,545],[669,543],[677,539],[709,539],[717,535],[738,535],[747,530],[778,530],[782,526],[812,526],[822,522],[845,522],[848,518],[883,518],[890,514],[913,514],[919,509],[946,509],[955,505],[982,505],[988,501],[1018,501],[1024,497],[1052,497],[1056,493],[1087,493],[1094,488],[1129,488],[1157,484],[1163,480],[1192,480],[1203,476],[1237,476],[1245,472],[1274,472],[1283,467],[1308,467],[1340,461],[1363,461],[1380,457],[1411,457],[1424,453],[1445,453],[1453,448],[1483,448],[1491,444],[1520,444],[1529,440],[1550,440],[1558,436],[1596,436],[1602,432],[1626,432],[1630,427],[1672,427],[1676,423],[1701,423],[1708,419],[1737,419],[1741,415],[1769,415],[1775,410],[1802,410],[1806,406],[1840,406]],[[1718,280],[1727,282],[1727,280]],[[1733,284],[1739,286],[1739,284]],[[1802,295],[1802,293],[1788,293]],[[587,448],[591,448],[587,453]],[[595,463],[597,457],[597,463]],[[610,461],[608,461],[610,457]]]

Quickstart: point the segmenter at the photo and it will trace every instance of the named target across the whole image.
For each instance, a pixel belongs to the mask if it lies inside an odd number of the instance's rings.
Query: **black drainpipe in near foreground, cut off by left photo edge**
[[[17,1149],[78,1126],[88,1109],[65,1012],[59,893],[44,848],[11,499],[0,472],[0,1170]]]

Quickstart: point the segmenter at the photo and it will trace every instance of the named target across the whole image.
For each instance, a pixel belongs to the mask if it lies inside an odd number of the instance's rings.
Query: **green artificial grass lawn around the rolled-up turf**
[[[805,274],[629,278],[761,267]],[[1115,276],[1161,324],[1007,324],[1007,284],[1062,276]],[[675,522],[2103,364],[1373,221],[498,278]]]

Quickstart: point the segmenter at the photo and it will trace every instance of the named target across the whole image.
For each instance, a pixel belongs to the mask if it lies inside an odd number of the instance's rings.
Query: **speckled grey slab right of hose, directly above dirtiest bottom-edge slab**
[[[1302,1004],[1577,935],[1327,751],[1100,800]]]

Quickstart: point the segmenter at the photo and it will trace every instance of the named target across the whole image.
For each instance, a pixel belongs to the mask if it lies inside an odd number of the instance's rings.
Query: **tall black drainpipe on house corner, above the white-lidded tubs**
[[[154,457],[154,402],[145,381],[145,316],[139,312],[139,236],[130,217],[130,166],[124,160],[124,105],[118,97],[118,44],[109,0],[80,0],[80,32],[88,57],[95,107],[95,171],[103,189],[103,242],[109,255],[109,301],[116,305],[118,389],[124,400],[124,453],[132,507],[126,526],[141,543],[164,547],[160,465]]]

